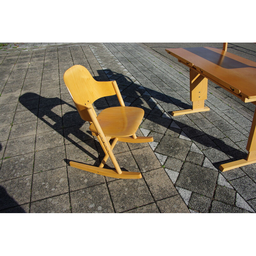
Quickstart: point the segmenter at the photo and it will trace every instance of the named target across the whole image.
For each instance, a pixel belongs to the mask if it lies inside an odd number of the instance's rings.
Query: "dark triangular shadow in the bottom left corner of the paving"
[[[26,213],[18,203],[8,195],[4,187],[0,186],[0,212],[2,213]]]

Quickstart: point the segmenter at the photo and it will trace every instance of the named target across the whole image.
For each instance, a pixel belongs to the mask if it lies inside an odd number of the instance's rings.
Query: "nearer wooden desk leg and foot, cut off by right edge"
[[[254,111],[254,116],[252,119],[252,126],[249,134],[246,150],[248,150],[248,155],[246,159],[233,161],[227,164],[221,164],[219,167],[220,171],[225,172],[225,171],[235,169],[244,165],[256,163],[256,109]]]

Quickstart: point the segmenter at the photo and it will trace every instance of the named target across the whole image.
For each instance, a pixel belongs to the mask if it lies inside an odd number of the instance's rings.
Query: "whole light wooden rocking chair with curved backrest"
[[[118,140],[130,143],[153,141],[153,137],[137,137],[135,134],[144,116],[144,110],[136,107],[125,107],[116,81],[98,82],[81,65],[75,65],[69,68],[65,72],[63,79],[78,113],[84,121],[90,122],[89,129],[92,135],[98,138],[105,153],[99,167],[73,161],[70,161],[70,166],[112,178],[142,178],[140,172],[121,171],[112,150]],[[115,94],[121,107],[103,109],[97,116],[92,103],[101,97]],[[113,140],[112,144],[109,143],[110,140]],[[110,157],[114,164],[115,170],[103,168],[108,157]]]

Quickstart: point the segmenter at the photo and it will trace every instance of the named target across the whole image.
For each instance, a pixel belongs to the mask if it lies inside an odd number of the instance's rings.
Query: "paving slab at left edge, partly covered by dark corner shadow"
[[[32,175],[0,182],[0,210],[30,201]]]

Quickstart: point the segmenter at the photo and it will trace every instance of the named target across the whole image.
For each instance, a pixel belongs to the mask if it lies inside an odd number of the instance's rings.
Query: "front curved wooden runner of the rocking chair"
[[[111,178],[117,178],[117,179],[140,179],[140,178],[142,178],[142,175],[140,172],[122,172],[121,174],[118,174],[116,172],[116,170],[109,170],[109,169],[100,168],[100,167],[92,166],[89,164],[81,164],[81,163],[77,163],[77,162],[73,162],[73,161],[70,161],[69,165],[72,167],[84,170],[86,172],[93,172],[93,173],[111,177]]]

